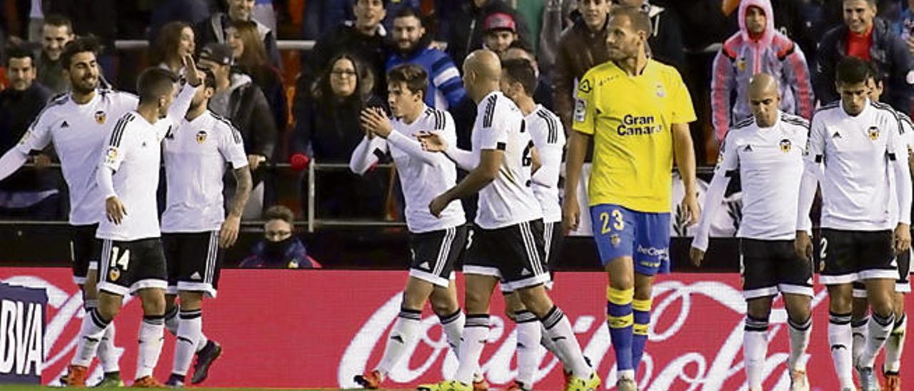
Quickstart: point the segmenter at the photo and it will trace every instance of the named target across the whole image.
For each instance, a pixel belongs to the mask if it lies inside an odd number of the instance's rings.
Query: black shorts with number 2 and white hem
[[[857,279],[898,279],[892,231],[822,228],[819,280],[825,285]]]

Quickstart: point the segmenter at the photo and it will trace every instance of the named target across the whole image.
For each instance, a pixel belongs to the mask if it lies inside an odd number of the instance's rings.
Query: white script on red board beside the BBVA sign
[[[44,352],[42,352],[45,357],[45,362],[38,373],[47,370],[53,365],[59,365],[60,370],[58,374],[50,376],[52,379],[50,385],[59,385],[58,379],[60,376],[67,374],[69,357],[76,349],[76,344],[79,343],[80,335],[79,333],[74,333],[69,341],[58,340],[60,340],[64,330],[67,329],[71,322],[75,322],[74,327],[79,331],[82,317],[85,315],[85,312],[82,309],[82,293],[76,291],[75,293],[70,294],[68,291],[58,288],[48,280],[44,280],[37,276],[15,276],[3,280],[3,282],[10,285],[43,289],[48,293],[48,310],[53,308],[56,312],[54,312],[53,318],[48,319],[48,326],[45,331],[44,339]],[[130,297],[125,298],[124,304],[130,300]],[[48,311],[48,314],[50,313],[51,311]],[[123,349],[117,348],[118,357],[120,357],[121,354],[123,354]],[[102,375],[104,374],[102,373],[101,365],[96,365],[95,370],[89,375],[88,383],[94,383],[101,380]]]

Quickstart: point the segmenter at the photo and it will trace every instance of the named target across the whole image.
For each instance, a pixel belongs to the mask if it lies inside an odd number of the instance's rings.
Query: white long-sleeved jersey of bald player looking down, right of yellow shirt
[[[795,238],[808,132],[809,122],[780,111],[777,122],[769,128],[760,128],[750,117],[730,129],[705,196],[693,247],[707,248],[711,221],[720,209],[729,178],[737,173],[742,185],[742,221],[737,237]]]

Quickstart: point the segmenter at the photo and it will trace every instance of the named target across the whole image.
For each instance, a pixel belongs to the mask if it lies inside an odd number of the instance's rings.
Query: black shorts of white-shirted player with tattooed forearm
[[[216,297],[224,256],[218,231],[162,234],[162,246],[168,265],[168,294],[198,291]]]

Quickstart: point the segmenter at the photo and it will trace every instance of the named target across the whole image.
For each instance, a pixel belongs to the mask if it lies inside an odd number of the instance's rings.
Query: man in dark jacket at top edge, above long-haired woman
[[[277,69],[282,69],[280,50],[276,47],[276,33],[270,27],[251,18],[254,10],[254,0],[226,1],[228,2],[228,13],[217,12],[194,28],[197,31],[197,47],[203,48],[213,42],[225,43],[228,40],[226,30],[228,30],[231,21],[252,20],[257,23],[257,32],[260,35],[260,40],[263,41],[263,47],[266,48],[270,64]]]

